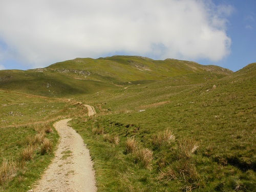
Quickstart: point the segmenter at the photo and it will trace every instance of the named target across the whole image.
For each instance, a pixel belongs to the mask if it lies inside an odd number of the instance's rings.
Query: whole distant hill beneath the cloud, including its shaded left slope
[[[41,96],[71,97],[116,89],[118,86],[126,86],[128,82],[145,84],[187,76],[191,82],[198,83],[230,74],[230,70],[221,67],[175,59],[153,60],[138,56],[76,58],[44,69],[2,70],[0,89]]]

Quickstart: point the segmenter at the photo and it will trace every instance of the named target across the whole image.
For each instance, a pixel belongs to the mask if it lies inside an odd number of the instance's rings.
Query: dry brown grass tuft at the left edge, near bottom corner
[[[3,160],[0,167],[0,184],[5,183],[6,181],[11,180],[17,172],[16,163],[13,161]]]

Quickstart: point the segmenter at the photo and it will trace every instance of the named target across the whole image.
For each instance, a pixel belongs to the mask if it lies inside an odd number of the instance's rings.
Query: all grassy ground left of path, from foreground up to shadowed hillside
[[[41,154],[44,138],[50,140],[52,149],[57,144],[53,123],[86,115],[86,110],[74,104],[65,99],[0,90],[0,191],[28,191],[39,179],[54,157],[50,152]],[[44,134],[47,127],[53,132]],[[42,139],[36,140],[38,135]]]

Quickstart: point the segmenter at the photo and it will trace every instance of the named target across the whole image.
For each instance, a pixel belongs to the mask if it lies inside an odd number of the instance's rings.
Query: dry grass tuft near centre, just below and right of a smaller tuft
[[[149,148],[136,148],[135,161],[148,169],[152,169],[153,151]]]

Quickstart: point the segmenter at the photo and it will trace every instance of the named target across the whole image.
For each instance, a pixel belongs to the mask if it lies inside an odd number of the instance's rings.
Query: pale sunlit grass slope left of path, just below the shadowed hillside
[[[0,90],[0,127],[53,119],[66,105],[64,99]]]

